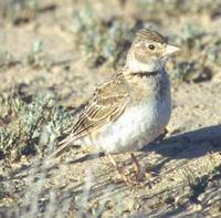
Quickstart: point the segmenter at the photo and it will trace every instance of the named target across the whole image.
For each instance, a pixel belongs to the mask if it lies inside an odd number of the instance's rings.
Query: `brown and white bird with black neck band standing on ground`
[[[134,152],[155,141],[171,114],[171,95],[165,64],[179,51],[167,38],[150,29],[136,33],[125,65],[98,85],[73,126],[52,154],[57,157],[73,145],[105,153],[125,183],[129,178],[114,154],[129,153],[137,176],[141,174]]]

